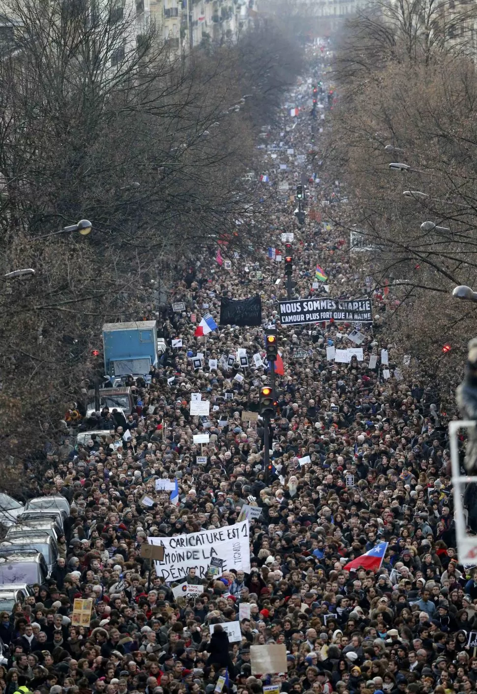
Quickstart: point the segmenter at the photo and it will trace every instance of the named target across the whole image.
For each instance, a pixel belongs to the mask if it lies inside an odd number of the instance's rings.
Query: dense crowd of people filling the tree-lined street
[[[0,566],[3,694],[476,690],[477,571],[457,558],[439,395],[392,363],[396,297],[350,255],[352,201],[320,158],[328,45],[309,54],[312,74],[262,128],[254,213],[237,219],[244,237],[260,226],[262,247],[225,241],[177,267],[165,349],[126,380],[131,413],[70,411],[29,482],[27,506],[54,497],[60,513],[40,538],[54,544],[41,579]],[[283,311],[328,297],[356,301],[362,320],[282,324],[287,255]],[[260,325],[221,324],[221,298],[257,296]],[[35,518],[11,525],[12,552]]]

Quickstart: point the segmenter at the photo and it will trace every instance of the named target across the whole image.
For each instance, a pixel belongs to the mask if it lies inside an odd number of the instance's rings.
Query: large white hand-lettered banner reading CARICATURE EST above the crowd
[[[165,555],[156,561],[156,574],[166,581],[187,577],[190,568],[200,578],[206,576],[210,559],[222,559],[224,571],[235,568],[250,573],[249,521],[217,530],[191,532],[175,537],[149,537],[152,545],[162,545]]]

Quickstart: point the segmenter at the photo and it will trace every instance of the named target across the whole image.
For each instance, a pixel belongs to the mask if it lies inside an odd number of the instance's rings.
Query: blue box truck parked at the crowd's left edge
[[[156,321],[103,325],[104,369],[108,376],[147,375],[158,363]]]

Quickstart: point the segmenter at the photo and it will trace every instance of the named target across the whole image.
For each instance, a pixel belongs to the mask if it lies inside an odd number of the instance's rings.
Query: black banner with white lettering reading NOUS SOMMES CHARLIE
[[[372,323],[371,299],[290,299],[280,302],[282,325],[321,323],[333,319],[335,323]]]

